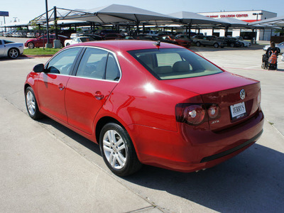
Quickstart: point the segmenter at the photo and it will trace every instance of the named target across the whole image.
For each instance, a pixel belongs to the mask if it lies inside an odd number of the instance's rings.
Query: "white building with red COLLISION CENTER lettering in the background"
[[[209,12],[209,13],[199,13],[200,15],[207,16],[210,18],[236,18],[241,21],[245,21],[247,23],[252,23],[253,21],[261,21],[267,18],[274,18],[277,16],[277,13],[258,10],[258,11],[220,11],[220,12]],[[224,29],[200,29],[200,33],[204,35],[217,35],[224,36]],[[273,29],[258,29],[251,30],[246,28],[230,28],[228,31],[228,35],[233,37],[241,36],[244,39],[252,39],[256,36],[256,40],[270,40],[271,36],[275,35],[275,31]]]

